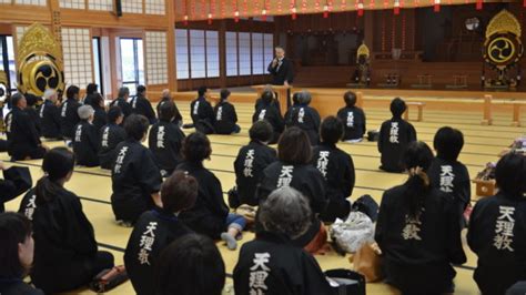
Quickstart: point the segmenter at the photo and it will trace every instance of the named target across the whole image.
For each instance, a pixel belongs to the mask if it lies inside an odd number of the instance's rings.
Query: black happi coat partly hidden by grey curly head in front
[[[289,165],[276,161],[263,170],[263,176],[256,190],[256,197],[260,202],[266,200],[266,197],[279,187],[280,176],[282,171],[284,171],[283,166],[293,167],[290,186],[300,191],[308,199],[313,213],[312,224],[308,231],[293,241],[296,246],[304,247],[320,232],[321,223],[317,215],[325,211],[327,204],[325,180],[322,173],[311,164]]]

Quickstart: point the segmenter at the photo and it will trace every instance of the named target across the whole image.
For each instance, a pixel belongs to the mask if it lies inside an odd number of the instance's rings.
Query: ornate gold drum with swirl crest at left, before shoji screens
[[[42,96],[47,89],[64,90],[62,50],[42,24],[28,28],[18,43],[18,89]]]

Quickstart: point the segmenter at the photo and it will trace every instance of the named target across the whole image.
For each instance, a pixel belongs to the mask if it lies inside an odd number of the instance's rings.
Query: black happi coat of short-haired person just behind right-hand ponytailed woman
[[[443,173],[448,171],[451,166],[452,173]],[[441,183],[441,174],[452,174],[453,187],[445,186]],[[467,167],[458,161],[447,161],[441,157],[435,157],[431,167],[427,170],[427,175],[429,176],[431,185],[438,190],[442,190],[445,193],[451,194],[455,202],[458,204],[458,207],[462,212],[466,210],[467,204],[472,200],[472,183],[469,179],[469,172]]]

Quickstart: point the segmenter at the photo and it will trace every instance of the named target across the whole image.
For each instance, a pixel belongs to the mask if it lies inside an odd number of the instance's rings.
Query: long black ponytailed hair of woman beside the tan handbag
[[[416,217],[424,204],[424,200],[429,192],[429,180],[427,170],[433,162],[433,152],[429,146],[422,141],[409,143],[404,152],[404,164],[407,171],[422,169],[421,173],[411,173],[406,181],[405,202],[409,211],[409,216]]]

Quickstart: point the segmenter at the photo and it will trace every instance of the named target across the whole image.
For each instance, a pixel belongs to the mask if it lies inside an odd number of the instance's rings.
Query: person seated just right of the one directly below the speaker
[[[297,126],[305,131],[308,135],[311,145],[316,145],[320,142],[320,114],[308,104],[312,101],[311,93],[302,91],[297,99],[297,106],[290,114],[291,126]]]

